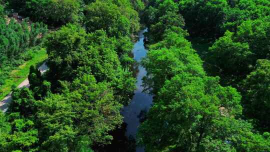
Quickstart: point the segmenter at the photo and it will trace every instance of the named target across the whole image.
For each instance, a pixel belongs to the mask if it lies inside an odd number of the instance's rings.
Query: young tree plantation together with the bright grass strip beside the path
[[[44,60],[45,54],[39,46],[41,37],[47,32],[43,23],[30,23],[23,19],[0,16],[0,98],[10,91],[12,84],[18,85],[27,77],[30,64]],[[27,61],[26,67],[15,70],[18,65]],[[15,73],[15,76],[14,76]]]

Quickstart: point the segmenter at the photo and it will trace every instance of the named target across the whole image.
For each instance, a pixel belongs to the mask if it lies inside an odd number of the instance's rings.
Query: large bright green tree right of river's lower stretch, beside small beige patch
[[[168,146],[175,147],[172,151],[199,151],[215,120],[241,113],[240,99],[235,88],[220,86],[217,77],[177,74],[157,93],[138,141],[146,151]]]

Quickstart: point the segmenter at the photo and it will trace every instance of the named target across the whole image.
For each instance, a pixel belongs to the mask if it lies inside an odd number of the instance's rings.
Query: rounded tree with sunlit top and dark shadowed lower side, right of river
[[[226,31],[209,48],[211,69],[222,77],[223,84],[241,80],[250,71],[252,52],[247,43],[235,42],[233,33]]]

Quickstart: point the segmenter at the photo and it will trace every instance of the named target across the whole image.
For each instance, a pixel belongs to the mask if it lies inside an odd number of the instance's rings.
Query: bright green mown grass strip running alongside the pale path
[[[2,100],[11,91],[12,85],[18,86],[24,79],[26,79],[31,65],[38,65],[41,62],[43,62],[46,58],[47,58],[46,50],[42,48],[34,53],[32,59],[18,66],[17,69],[12,70],[9,74],[9,77],[0,87],[0,100]]]

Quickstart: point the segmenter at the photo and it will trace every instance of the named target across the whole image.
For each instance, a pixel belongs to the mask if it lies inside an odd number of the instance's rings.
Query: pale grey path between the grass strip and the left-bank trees
[[[48,67],[45,63],[43,63],[41,66],[38,67],[39,71],[42,73],[44,73]],[[24,81],[22,81],[17,87],[21,88],[21,87],[29,87],[29,81],[28,78],[26,78]],[[7,110],[8,104],[11,101],[11,93],[10,92],[8,95],[6,95],[1,101],[0,101],[0,110],[2,110],[3,112],[5,112]]]

